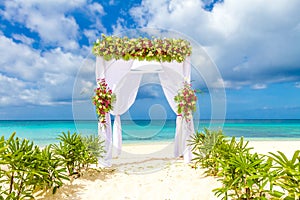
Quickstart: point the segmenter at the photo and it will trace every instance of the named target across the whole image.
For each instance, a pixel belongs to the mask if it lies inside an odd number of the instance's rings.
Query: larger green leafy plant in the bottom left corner
[[[13,133],[6,141],[1,138],[0,149],[2,166],[1,182],[8,188],[1,193],[6,199],[33,198],[37,188],[49,190],[62,185],[61,179],[67,179],[63,174],[65,169],[60,162],[52,158],[49,147],[40,150],[33,142],[19,139]]]

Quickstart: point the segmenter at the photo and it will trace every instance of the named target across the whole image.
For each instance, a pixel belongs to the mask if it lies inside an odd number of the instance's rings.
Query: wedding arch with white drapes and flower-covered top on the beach
[[[115,95],[115,102],[109,102],[113,109],[102,113],[104,120],[98,120],[98,134],[105,140],[107,163],[112,159],[113,147],[117,155],[121,153],[120,116],[134,103],[145,73],[158,73],[166,99],[177,114],[174,156],[183,156],[186,163],[190,162],[192,154],[187,140],[194,133],[192,111],[178,109],[178,102],[174,99],[186,83],[190,83],[190,43],[182,39],[129,39],[102,35],[102,39],[95,42],[93,53],[96,56],[96,80],[105,80],[105,85]],[[101,108],[105,106],[99,102]],[[114,115],[113,125],[111,114]]]

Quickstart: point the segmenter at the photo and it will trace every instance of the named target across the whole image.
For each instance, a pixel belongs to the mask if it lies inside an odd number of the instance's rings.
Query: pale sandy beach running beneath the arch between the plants
[[[253,152],[291,156],[300,141],[250,141],[249,146]],[[57,194],[39,199],[218,199],[212,189],[220,183],[203,172],[174,159],[172,143],[127,144],[112,167],[90,170]]]

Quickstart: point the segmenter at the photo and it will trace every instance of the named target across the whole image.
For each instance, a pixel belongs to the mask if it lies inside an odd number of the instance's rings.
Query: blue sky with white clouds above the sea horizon
[[[95,84],[93,64],[86,64],[93,42],[142,27],[174,30],[202,45],[222,76],[226,118],[299,119],[299,7],[298,0],[1,1],[0,120],[73,119],[74,83],[86,90]],[[173,117],[160,90],[141,88],[131,116],[147,118],[159,104]],[[199,99],[201,118],[210,118],[209,92]],[[78,105],[76,118],[95,116]]]

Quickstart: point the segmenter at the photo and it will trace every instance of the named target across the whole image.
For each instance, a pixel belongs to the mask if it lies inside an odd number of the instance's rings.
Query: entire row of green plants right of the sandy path
[[[206,174],[216,176],[222,182],[222,187],[213,191],[222,199],[268,199],[272,193],[273,184],[281,187],[293,188],[289,193],[299,194],[299,179],[295,177],[286,177],[287,173],[282,172],[282,166],[287,163],[287,159],[277,156],[277,162],[281,163],[280,170],[272,171],[272,159],[266,158],[265,155],[250,153],[248,142],[241,138],[239,141],[232,137],[226,140],[222,131],[210,131],[204,129],[204,133],[197,132],[191,139],[194,161],[196,165],[206,168]],[[288,170],[293,171],[293,175],[299,175],[299,166],[295,163],[296,158],[299,162],[299,154],[294,155],[289,162]],[[292,164],[291,164],[292,163]],[[298,172],[296,173],[295,171]],[[277,174],[285,174],[280,179],[276,178]],[[299,178],[299,176],[298,176]],[[275,182],[273,183],[272,181]],[[297,182],[298,181],[298,182]],[[287,184],[289,182],[289,184]],[[285,185],[285,186],[283,186]],[[289,186],[287,186],[289,185]],[[270,189],[267,189],[267,186]],[[285,190],[288,191],[288,188]],[[278,191],[273,192],[274,196]],[[296,196],[293,196],[296,198]]]

